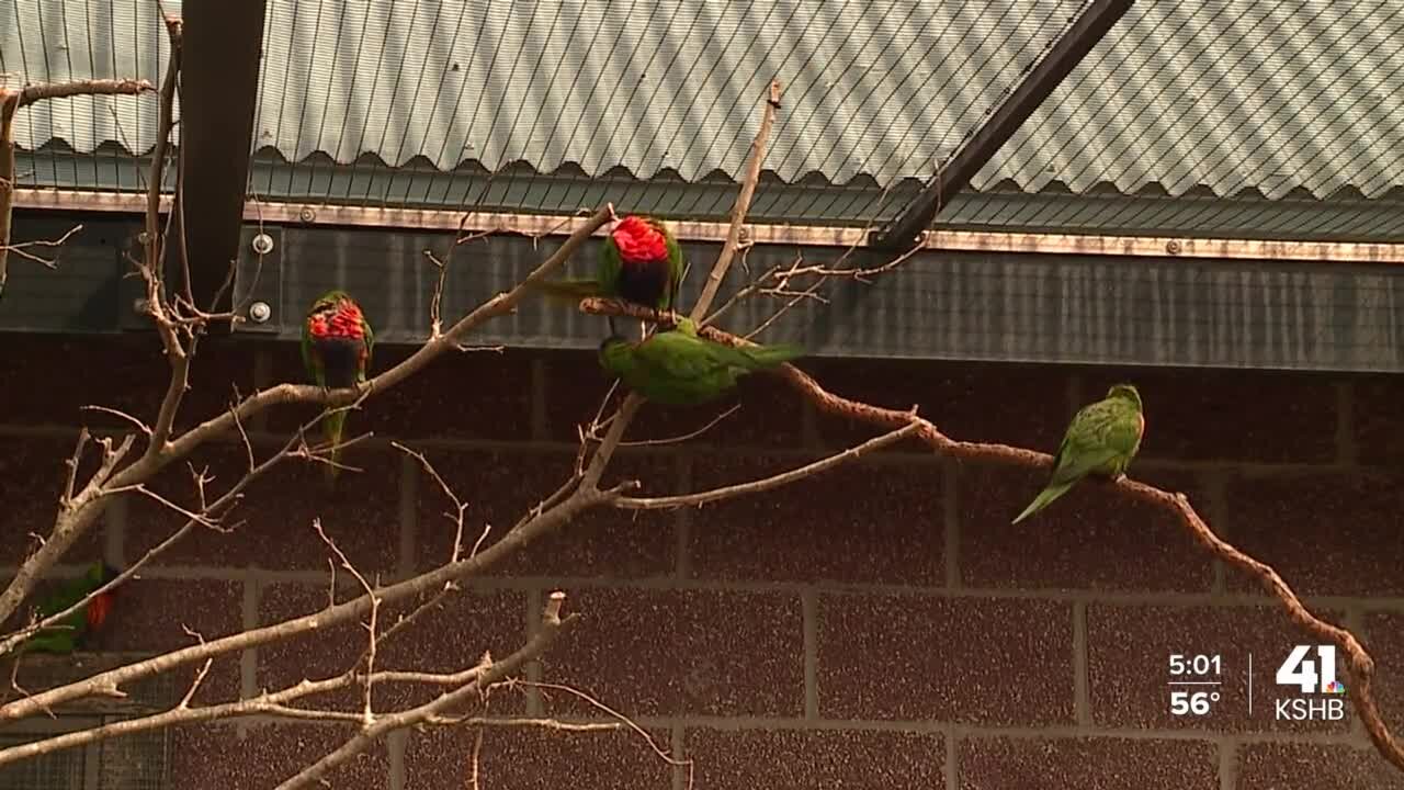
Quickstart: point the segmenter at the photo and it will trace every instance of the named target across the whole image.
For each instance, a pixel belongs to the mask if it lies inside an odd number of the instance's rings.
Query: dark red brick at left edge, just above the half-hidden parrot
[[[65,461],[73,457],[73,439],[0,439],[0,564],[15,565],[39,547],[38,537],[53,531],[59,495],[67,478]],[[97,468],[90,446],[79,467],[79,482]],[[98,522],[63,554],[63,564],[81,565],[102,557],[102,523]]]

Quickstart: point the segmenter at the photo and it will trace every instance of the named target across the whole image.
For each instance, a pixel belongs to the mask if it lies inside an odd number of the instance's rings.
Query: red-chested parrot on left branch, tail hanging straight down
[[[375,333],[361,312],[361,305],[345,291],[327,291],[312,302],[302,323],[302,363],[307,375],[323,389],[345,389],[365,384],[371,367]],[[327,485],[337,478],[341,429],[345,409],[322,417],[322,430],[331,443],[331,464],[327,465]]]

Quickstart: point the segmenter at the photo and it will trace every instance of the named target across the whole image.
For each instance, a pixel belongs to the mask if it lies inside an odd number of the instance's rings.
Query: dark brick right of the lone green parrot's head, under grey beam
[[[1085,368],[1081,380],[1088,403],[1116,382],[1140,389],[1140,454],[1147,458],[1307,464],[1337,457],[1335,384],[1323,375],[1097,367]]]

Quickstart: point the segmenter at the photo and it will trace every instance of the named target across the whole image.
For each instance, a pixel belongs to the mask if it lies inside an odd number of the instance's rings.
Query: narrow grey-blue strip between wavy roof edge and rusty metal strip
[[[15,166],[28,173],[25,186],[58,190],[136,193],[149,171],[145,160],[121,152],[91,156],[62,145],[20,153]],[[167,181],[174,181],[171,173]],[[736,184],[730,180],[688,184],[625,176],[587,179],[578,170],[508,173],[494,179],[482,169],[462,169],[445,176],[427,166],[390,170],[336,164],[320,153],[288,163],[267,150],[254,156],[250,183],[260,200],[313,207],[343,202],[437,209],[469,204],[480,211],[560,215],[608,201],[616,207],[647,207],[671,219],[708,221],[724,216],[736,201]],[[886,193],[872,184],[767,180],[757,190],[747,216],[775,225],[863,226],[893,216],[920,187],[915,179]],[[1269,201],[1210,194],[1074,195],[1054,188],[1022,193],[1011,184],[983,193],[966,190],[942,209],[934,226],[1022,233],[1398,243],[1404,242],[1404,202],[1348,200],[1345,195],[1328,202],[1309,197]]]

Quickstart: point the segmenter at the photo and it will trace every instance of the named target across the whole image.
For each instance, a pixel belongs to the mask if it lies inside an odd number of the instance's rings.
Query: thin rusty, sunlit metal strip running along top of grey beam
[[[143,201],[145,197],[136,193],[70,190],[15,190],[14,193],[15,208],[27,209],[140,214],[145,209]],[[161,209],[168,208],[170,198],[161,198]],[[275,225],[453,231],[462,218],[463,215],[455,211],[418,208],[254,201],[244,204],[244,222],[263,221]],[[468,215],[463,226],[475,232],[498,231],[526,236],[566,236],[583,225],[585,219],[585,216],[473,212]],[[670,222],[670,226],[678,239],[687,242],[720,243],[726,239],[727,229],[724,222],[678,221]],[[866,242],[863,228],[748,225],[746,232],[747,239],[757,245],[856,247]],[[922,246],[929,250],[952,252],[1404,264],[1404,243],[928,231]]]

